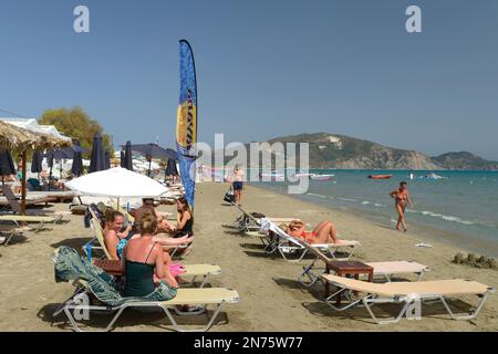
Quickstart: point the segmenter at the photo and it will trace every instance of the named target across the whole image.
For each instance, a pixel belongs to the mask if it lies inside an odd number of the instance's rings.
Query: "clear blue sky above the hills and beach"
[[[408,4],[422,33],[405,31]],[[80,105],[115,145],[173,146],[181,38],[201,140],[330,132],[498,159],[496,0],[0,0],[0,107]]]

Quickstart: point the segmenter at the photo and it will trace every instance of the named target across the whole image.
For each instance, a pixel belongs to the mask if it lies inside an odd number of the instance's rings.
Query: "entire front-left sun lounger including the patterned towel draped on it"
[[[62,260],[59,252],[62,252]],[[127,308],[159,308],[170,321],[173,329],[179,332],[206,332],[215,323],[216,317],[225,303],[239,302],[237,291],[225,288],[203,288],[203,289],[173,289],[164,283],[146,298],[123,298],[118,292],[115,279],[107,275],[97,267],[89,266],[84,259],[77,256],[75,250],[61,247],[54,252],[55,280],[70,281],[76,290],[73,295],[65,300],[53,313],[54,316],[64,312],[74,331],[82,332],[74,314],[82,314],[89,311],[87,319],[91,319],[91,311],[94,312],[116,312],[104,331],[113,329],[114,323]],[[97,299],[97,303],[92,303],[91,296]],[[166,298],[165,298],[166,296]],[[169,299],[169,300],[158,300]],[[178,325],[172,314],[179,305],[215,305],[215,311],[208,323],[200,329],[185,329]],[[74,312],[74,314],[72,313]],[[81,317],[80,317],[81,319]]]

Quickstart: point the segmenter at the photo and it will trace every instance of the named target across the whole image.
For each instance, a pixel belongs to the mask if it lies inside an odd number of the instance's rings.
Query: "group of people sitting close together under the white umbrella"
[[[110,209],[105,215],[104,242],[112,260],[120,260],[126,274],[124,296],[145,296],[159,281],[178,288],[181,268],[173,263],[169,250],[184,246],[189,251],[194,240],[194,216],[186,198],[176,202],[176,225],[154,208],[153,198],[144,198],[135,211],[134,223],[125,227],[125,215]]]

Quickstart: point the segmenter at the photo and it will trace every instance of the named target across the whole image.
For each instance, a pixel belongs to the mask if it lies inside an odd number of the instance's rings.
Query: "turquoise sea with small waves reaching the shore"
[[[394,228],[397,219],[394,200],[388,194],[405,180],[414,202],[406,212],[408,232],[416,230],[429,239],[498,257],[498,171],[310,169],[310,173],[333,174],[334,177],[325,181],[310,180],[304,194],[291,197],[350,211],[386,228]],[[430,173],[444,178],[423,178]],[[367,178],[383,174],[392,177]],[[289,185],[295,185],[289,181],[251,184],[281,194],[288,194]],[[340,230],[340,226],[338,228]]]

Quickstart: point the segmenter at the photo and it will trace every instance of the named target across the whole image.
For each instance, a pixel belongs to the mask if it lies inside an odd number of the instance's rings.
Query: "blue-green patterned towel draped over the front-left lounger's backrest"
[[[89,283],[92,293],[102,302],[111,306],[120,306],[133,301],[168,301],[176,296],[177,289],[159,281],[156,290],[144,298],[124,298],[120,293],[116,278],[107,274],[101,268],[87,262],[86,258],[77,254],[71,247],[59,248],[55,266],[55,281],[63,282],[82,279]]]

